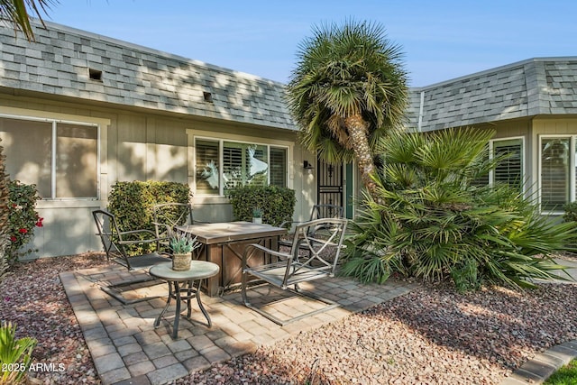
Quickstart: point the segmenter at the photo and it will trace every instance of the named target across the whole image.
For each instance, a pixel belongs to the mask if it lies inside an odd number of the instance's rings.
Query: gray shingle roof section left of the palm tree
[[[36,42],[0,25],[0,87],[297,129],[280,83],[56,23],[34,25]],[[88,69],[102,71],[102,81]]]

